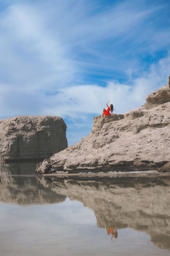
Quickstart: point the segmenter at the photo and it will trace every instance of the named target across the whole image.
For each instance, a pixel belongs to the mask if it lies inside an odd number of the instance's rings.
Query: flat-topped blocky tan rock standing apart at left
[[[65,149],[66,124],[55,116],[0,120],[0,160],[44,159]]]

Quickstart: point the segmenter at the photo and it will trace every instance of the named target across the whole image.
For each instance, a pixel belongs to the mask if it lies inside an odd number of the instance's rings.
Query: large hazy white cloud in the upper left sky
[[[54,82],[60,87],[73,80],[74,64],[44,20],[27,5],[9,7],[0,20],[1,77],[21,91],[54,90]]]

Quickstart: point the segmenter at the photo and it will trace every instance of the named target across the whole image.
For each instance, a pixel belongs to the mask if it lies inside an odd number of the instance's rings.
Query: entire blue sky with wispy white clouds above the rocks
[[[0,0],[0,118],[56,115],[68,144],[110,100],[140,107],[170,75],[169,0]]]

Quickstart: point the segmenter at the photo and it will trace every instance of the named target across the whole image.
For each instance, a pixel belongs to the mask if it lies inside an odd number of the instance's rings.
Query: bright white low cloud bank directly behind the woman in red
[[[151,65],[149,71],[134,79],[131,85],[111,81],[106,87],[77,85],[63,88],[58,94],[50,96],[52,108],[46,109],[46,112],[58,112],[63,117],[71,118],[81,117],[82,114],[100,114],[110,100],[115,111],[123,113],[143,105],[149,93],[167,84],[169,75],[170,56]]]

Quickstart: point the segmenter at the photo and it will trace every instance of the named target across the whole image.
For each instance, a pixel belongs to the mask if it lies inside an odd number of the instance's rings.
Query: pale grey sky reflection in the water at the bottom
[[[0,254],[3,256],[162,255],[145,232],[119,229],[111,241],[97,228],[92,210],[78,201],[22,207],[0,203]]]

